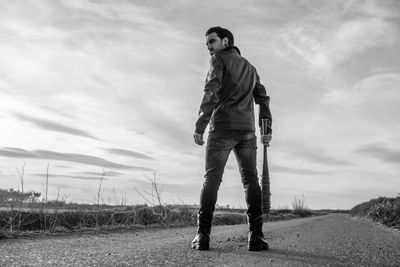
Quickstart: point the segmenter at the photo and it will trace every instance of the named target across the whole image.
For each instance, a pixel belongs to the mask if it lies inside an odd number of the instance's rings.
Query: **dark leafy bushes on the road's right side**
[[[371,199],[353,207],[350,214],[400,229],[400,194],[397,197]]]

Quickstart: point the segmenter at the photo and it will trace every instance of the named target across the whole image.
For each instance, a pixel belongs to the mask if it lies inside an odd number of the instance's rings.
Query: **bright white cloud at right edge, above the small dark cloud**
[[[366,132],[398,136],[399,83],[399,72],[378,72],[350,87],[332,88],[322,98],[326,117],[348,121],[345,127],[358,124]]]

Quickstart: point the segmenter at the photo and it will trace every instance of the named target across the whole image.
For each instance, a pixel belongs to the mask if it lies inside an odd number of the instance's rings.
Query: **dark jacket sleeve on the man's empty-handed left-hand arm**
[[[218,103],[216,93],[221,89],[224,66],[219,56],[213,55],[210,59],[210,69],[204,87],[203,101],[196,122],[196,133],[204,133],[210,122],[215,105]]]

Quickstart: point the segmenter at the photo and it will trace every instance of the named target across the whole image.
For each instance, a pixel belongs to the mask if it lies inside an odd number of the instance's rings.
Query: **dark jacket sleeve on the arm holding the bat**
[[[272,133],[272,115],[269,109],[269,96],[265,87],[260,83],[260,77],[256,74],[256,86],[254,88],[253,97],[256,104],[260,106],[260,114],[258,118],[258,125],[262,128],[262,119],[268,119],[268,130],[267,133]]]

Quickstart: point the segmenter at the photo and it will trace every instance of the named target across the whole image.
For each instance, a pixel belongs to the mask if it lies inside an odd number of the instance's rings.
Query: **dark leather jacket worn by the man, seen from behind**
[[[255,67],[240,55],[237,47],[218,51],[210,59],[196,133],[204,133],[208,123],[210,132],[254,132],[254,102],[260,106],[259,126],[261,119],[267,118],[270,133],[269,100]]]

